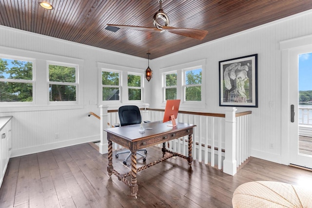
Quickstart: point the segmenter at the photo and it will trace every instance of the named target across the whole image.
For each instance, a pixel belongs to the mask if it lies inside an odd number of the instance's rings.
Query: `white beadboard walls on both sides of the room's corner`
[[[218,62],[235,57],[258,54],[258,108],[239,108],[253,111],[252,156],[281,162],[281,51],[279,41],[312,34],[312,11],[282,19],[229,37],[201,44],[165,57],[150,61],[154,72],[152,80],[145,81],[144,102],[153,108],[162,108],[161,72],[170,66],[206,59],[206,100],[201,110],[224,113],[219,107]],[[209,34],[208,34],[209,36]],[[77,43],[49,38],[0,26],[0,46],[35,51],[84,61],[82,107],[73,110],[42,110],[3,112],[0,116],[13,115],[12,156],[43,151],[51,147],[66,146],[94,140],[99,136],[99,121],[88,117],[90,111],[98,113],[97,62],[146,69],[147,60],[118,54]],[[1,50],[1,49],[0,49]],[[0,51],[0,54],[2,51]],[[149,93],[149,92],[153,93]],[[152,96],[153,95],[153,96]],[[273,102],[273,106],[269,105]],[[90,104],[91,103],[91,104]],[[184,110],[184,109],[183,109]],[[188,108],[198,111],[198,107]],[[60,138],[54,138],[59,132]],[[62,142],[59,142],[62,141]],[[270,149],[273,143],[274,149]]]

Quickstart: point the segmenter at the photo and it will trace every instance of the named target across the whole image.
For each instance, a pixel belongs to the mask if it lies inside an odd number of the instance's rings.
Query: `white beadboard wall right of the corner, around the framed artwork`
[[[161,78],[162,69],[195,60],[206,59],[205,112],[224,113],[219,107],[218,73],[219,61],[258,54],[258,108],[238,108],[238,112],[252,113],[252,150],[251,155],[273,162],[281,163],[281,51],[279,41],[312,34],[312,10],[240,32],[225,38],[201,44],[165,57],[153,59],[151,68],[154,79]],[[209,36],[209,33],[208,33]],[[163,104],[161,89],[156,81],[151,82],[155,90],[151,107]],[[270,107],[270,102],[273,104]],[[191,111],[198,111],[197,106]],[[270,149],[270,144],[274,149]],[[287,152],[287,151],[286,151]]]

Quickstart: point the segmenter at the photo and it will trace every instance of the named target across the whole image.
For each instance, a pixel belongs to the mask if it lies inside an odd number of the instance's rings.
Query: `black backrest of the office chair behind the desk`
[[[135,105],[125,105],[118,109],[120,126],[127,126],[141,123],[140,109]]]

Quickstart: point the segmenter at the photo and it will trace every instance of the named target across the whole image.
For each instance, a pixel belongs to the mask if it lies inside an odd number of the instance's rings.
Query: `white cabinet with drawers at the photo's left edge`
[[[0,187],[12,152],[12,116],[0,117]]]

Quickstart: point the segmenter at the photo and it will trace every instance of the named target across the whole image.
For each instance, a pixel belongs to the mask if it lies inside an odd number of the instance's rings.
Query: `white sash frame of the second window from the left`
[[[49,65],[57,65],[57,66],[65,66],[65,67],[73,67],[75,68],[75,77],[76,82],[56,82],[49,80],[50,69]],[[47,103],[49,105],[64,105],[64,104],[78,104],[79,103],[79,64],[73,63],[65,63],[60,61],[47,61],[46,62],[47,69]],[[76,86],[76,101],[50,101],[50,84],[51,85],[67,85],[67,86]]]

